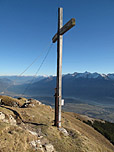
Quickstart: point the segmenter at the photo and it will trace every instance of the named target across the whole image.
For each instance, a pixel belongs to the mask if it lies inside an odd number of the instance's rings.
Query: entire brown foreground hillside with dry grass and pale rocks
[[[113,152],[114,146],[81,116],[62,112],[62,129],[54,110],[41,102],[0,96],[0,152]]]

